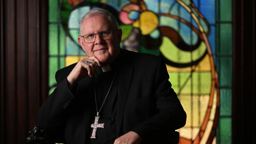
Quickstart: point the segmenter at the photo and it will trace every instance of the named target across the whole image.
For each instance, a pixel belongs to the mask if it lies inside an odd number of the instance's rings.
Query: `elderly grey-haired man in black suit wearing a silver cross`
[[[56,72],[38,124],[67,144],[171,142],[186,113],[163,61],[121,49],[122,30],[104,9],[83,16],[80,35],[88,58]]]

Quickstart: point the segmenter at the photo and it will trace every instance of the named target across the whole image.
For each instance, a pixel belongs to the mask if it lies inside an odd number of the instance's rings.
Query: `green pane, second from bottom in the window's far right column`
[[[220,116],[231,116],[231,93],[231,89],[223,88],[220,90]]]

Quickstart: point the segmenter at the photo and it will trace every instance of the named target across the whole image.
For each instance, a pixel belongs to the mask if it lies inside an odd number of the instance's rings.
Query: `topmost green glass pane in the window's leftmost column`
[[[59,0],[49,0],[49,22],[58,22],[58,7]]]

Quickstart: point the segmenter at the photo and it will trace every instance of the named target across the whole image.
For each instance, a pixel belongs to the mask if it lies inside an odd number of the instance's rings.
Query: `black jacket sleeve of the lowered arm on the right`
[[[158,62],[155,78],[154,91],[158,113],[132,129],[144,141],[161,137],[162,134],[179,129],[186,124],[186,112],[171,88],[169,74],[162,60]]]

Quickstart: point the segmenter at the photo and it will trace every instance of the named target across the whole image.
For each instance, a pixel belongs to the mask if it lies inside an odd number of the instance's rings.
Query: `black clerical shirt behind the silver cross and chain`
[[[108,93],[111,82],[114,78],[115,73],[117,72],[109,94],[102,106],[102,109],[99,113],[99,124],[104,123],[104,128],[97,128],[96,138],[90,138],[93,128],[90,129],[87,133],[88,144],[113,144],[117,138],[117,129],[116,129],[116,116],[117,116],[117,91],[118,91],[118,64],[117,59],[110,64],[111,70],[108,72],[102,72],[101,68],[98,68],[95,76],[95,92],[98,111],[104,102],[106,94]],[[93,92],[94,94],[94,92]],[[95,102],[94,104],[95,105]],[[91,124],[94,124],[96,116],[96,106],[94,107],[93,114],[91,116]],[[90,124],[90,126],[91,126]]]

